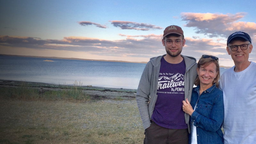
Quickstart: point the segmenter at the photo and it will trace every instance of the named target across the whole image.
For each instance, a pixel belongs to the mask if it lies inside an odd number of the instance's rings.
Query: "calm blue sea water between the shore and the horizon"
[[[0,56],[0,79],[137,89],[146,64]],[[220,68],[220,74],[225,70]]]

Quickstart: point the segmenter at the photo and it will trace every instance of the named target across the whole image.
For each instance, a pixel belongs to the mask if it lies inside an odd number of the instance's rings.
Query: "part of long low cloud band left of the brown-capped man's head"
[[[137,36],[134,36],[137,37]],[[141,35],[142,39],[127,36],[123,40],[104,40],[89,37],[64,37],[62,40],[38,39],[34,37],[21,36],[0,36],[0,45],[5,47],[24,47],[32,49],[52,49],[66,50],[75,52],[98,53],[104,56],[122,56],[132,57],[153,57],[156,54],[153,51],[162,51],[161,35]],[[145,51],[146,49],[146,51]]]

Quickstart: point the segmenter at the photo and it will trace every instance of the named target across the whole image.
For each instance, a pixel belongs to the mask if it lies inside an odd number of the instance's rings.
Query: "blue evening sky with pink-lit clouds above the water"
[[[0,54],[148,62],[166,54],[164,29],[180,26],[181,54],[211,54],[221,66],[234,66],[226,50],[236,31],[256,42],[256,2],[2,0]],[[250,61],[256,62],[256,49]]]

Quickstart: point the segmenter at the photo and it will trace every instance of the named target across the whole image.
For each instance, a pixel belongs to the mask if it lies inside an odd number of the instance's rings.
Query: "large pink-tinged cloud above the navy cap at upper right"
[[[256,34],[256,23],[238,21],[244,18],[245,12],[234,14],[221,13],[181,13],[181,18],[186,21],[185,27],[194,27],[197,34],[212,37],[225,37],[236,31],[244,31],[249,35]]]

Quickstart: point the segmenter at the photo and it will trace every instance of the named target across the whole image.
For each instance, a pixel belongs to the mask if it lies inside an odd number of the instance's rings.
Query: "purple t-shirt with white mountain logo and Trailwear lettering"
[[[171,64],[161,59],[158,78],[157,100],[151,119],[159,126],[168,129],[186,129],[182,100],[185,99],[184,59],[178,64]]]

